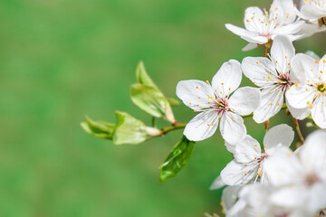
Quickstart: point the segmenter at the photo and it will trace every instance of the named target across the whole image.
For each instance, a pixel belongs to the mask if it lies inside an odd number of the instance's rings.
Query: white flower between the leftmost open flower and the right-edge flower
[[[282,109],[284,93],[296,81],[290,67],[294,55],[292,42],[287,37],[278,35],[273,41],[269,58],[246,57],[242,62],[241,68],[245,76],[262,89],[261,104],[254,110],[254,120],[257,123],[272,118]],[[308,116],[306,109],[292,109],[291,106],[288,109],[297,116]]]

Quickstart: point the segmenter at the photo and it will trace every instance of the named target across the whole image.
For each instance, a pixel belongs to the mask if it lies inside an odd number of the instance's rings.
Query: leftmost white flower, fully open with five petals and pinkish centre
[[[238,61],[227,61],[216,72],[212,85],[208,81],[181,80],[177,83],[177,97],[195,112],[184,135],[192,141],[211,137],[220,122],[222,137],[235,143],[245,137],[246,128],[241,116],[249,115],[260,103],[260,92],[245,87],[236,90],[242,79]],[[235,93],[230,97],[230,94]]]

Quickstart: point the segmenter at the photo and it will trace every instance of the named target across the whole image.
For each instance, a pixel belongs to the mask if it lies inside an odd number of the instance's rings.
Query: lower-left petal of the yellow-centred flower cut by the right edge
[[[311,86],[299,84],[292,85],[290,90],[287,90],[286,100],[294,109],[305,109],[312,104],[314,90]]]

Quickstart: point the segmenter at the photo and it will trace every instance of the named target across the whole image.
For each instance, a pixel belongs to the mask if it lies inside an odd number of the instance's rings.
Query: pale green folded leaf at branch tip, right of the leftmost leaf
[[[113,136],[114,144],[139,144],[147,139],[146,126],[139,119],[133,118],[121,111],[116,111],[116,117],[117,125]]]

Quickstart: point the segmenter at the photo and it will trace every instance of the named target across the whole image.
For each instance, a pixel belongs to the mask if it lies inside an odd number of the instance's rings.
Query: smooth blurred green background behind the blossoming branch
[[[178,80],[211,80],[224,61],[261,55],[259,49],[241,52],[246,42],[224,24],[242,26],[247,6],[270,3],[1,0],[0,216],[219,212],[221,191],[208,188],[231,156],[218,131],[197,143],[175,179],[161,184],[158,165],[181,130],[139,146],[114,146],[83,132],[80,122],[86,114],[115,122],[119,109],[150,123],[129,99],[140,60],[158,87],[175,97]],[[297,48],[321,55],[325,50],[316,39],[322,37],[297,42]],[[175,115],[180,122],[194,116],[183,105]],[[272,126],[290,120],[279,117]],[[261,141],[264,126],[252,119],[245,123]]]

